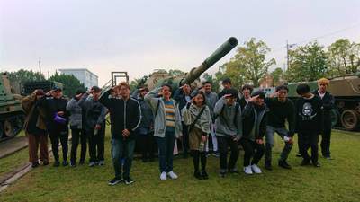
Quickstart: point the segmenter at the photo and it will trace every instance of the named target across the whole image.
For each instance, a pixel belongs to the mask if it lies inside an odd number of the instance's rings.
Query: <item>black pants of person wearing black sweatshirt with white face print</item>
[[[319,159],[319,135],[318,132],[299,132],[299,151],[305,161],[318,162]],[[308,148],[311,147],[311,157]]]

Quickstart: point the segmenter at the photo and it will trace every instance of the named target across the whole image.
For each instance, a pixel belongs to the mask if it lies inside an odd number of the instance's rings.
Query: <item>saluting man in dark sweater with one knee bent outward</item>
[[[286,162],[293,149],[293,134],[295,131],[295,106],[293,101],[287,99],[289,88],[286,85],[276,87],[276,92],[265,99],[270,109],[269,119],[266,127],[266,153],[265,168],[272,170],[272,149],[274,147],[274,134],[277,133],[285,142],[282,154],[280,154],[279,166],[285,169],[292,167]],[[285,127],[286,119],[289,123],[289,130]]]

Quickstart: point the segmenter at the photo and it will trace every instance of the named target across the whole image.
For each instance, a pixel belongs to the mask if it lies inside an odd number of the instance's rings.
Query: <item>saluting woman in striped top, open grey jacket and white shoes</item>
[[[161,88],[148,92],[144,98],[155,116],[154,136],[157,140],[161,180],[166,180],[166,172],[172,179],[177,179],[173,171],[174,145],[175,138],[181,138],[182,125],[176,102],[170,100],[171,92],[172,86],[166,83]],[[154,98],[157,93],[163,97]]]

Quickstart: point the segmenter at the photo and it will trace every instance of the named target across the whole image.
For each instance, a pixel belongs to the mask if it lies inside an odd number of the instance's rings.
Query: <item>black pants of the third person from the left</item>
[[[72,145],[71,145],[71,162],[76,162],[77,146],[79,139],[81,140],[80,161],[85,161],[86,157],[86,134],[83,129],[71,129]]]

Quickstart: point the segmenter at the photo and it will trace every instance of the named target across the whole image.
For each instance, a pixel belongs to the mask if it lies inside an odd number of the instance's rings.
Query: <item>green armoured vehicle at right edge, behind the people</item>
[[[335,99],[335,105],[331,110],[332,127],[342,130],[360,129],[360,77],[359,73],[339,75],[329,79],[327,89]],[[300,83],[290,83],[289,98],[295,101],[299,95],[296,87]],[[311,92],[318,89],[318,81],[308,83]]]

